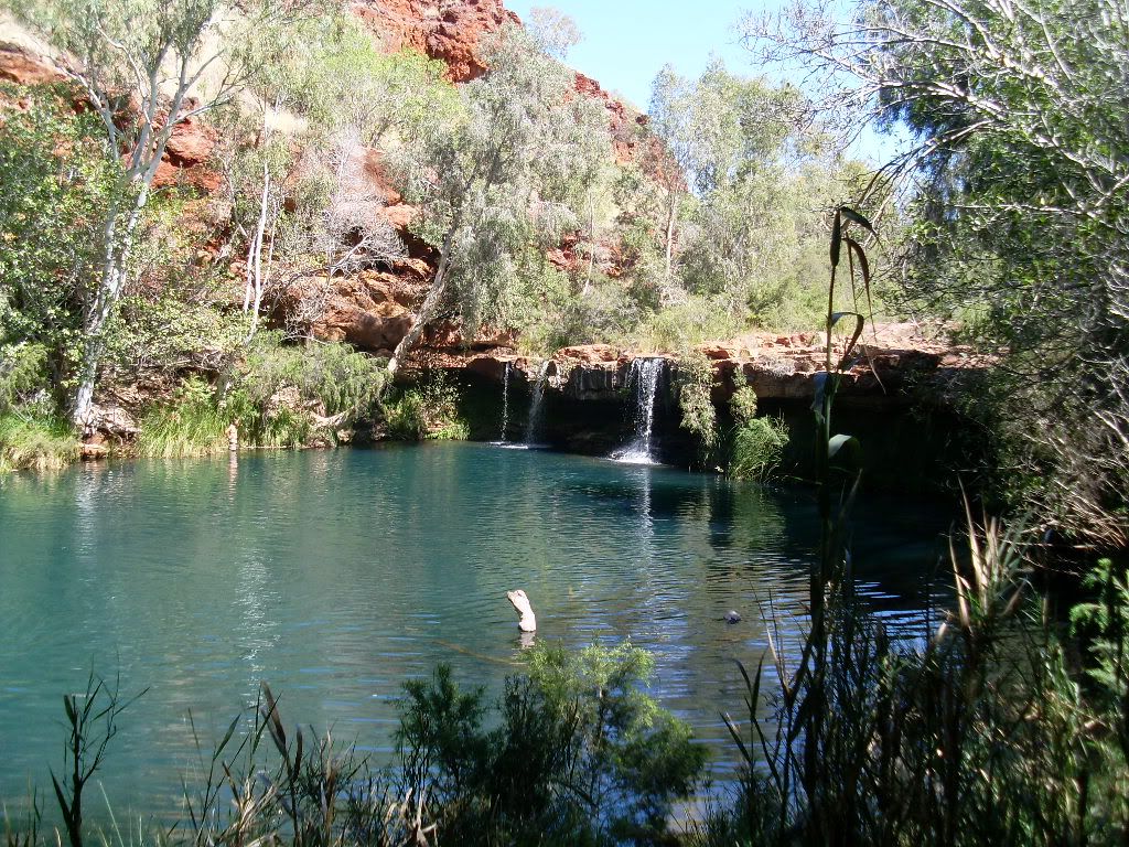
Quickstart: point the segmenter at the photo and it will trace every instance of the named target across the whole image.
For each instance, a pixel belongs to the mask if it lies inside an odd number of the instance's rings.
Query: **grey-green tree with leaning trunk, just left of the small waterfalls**
[[[388,363],[395,372],[446,312],[473,332],[534,307],[544,253],[579,225],[611,156],[599,103],[518,27],[488,46],[490,70],[460,89],[462,107],[396,155],[421,235],[437,245],[430,290]]]

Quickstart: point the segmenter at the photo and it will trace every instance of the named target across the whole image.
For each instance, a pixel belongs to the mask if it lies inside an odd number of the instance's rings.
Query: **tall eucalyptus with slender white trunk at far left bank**
[[[266,42],[285,50],[301,0],[5,0],[56,51],[100,120],[116,178],[102,217],[97,280],[85,291],[76,425],[88,426],[105,331],[130,278],[139,227],[177,126],[229,102]]]

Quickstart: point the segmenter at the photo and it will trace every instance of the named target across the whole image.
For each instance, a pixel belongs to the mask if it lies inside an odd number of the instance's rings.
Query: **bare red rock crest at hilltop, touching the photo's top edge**
[[[502,0],[359,0],[352,8],[386,51],[406,47],[437,59],[452,82],[481,77],[483,36],[522,23]]]

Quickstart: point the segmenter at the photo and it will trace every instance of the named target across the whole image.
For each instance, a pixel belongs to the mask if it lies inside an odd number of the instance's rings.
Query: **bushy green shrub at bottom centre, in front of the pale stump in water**
[[[537,646],[484,731],[482,691],[450,669],[405,686],[397,745],[405,789],[430,786],[457,844],[650,841],[704,763],[689,728],[639,686],[653,661],[628,644]]]

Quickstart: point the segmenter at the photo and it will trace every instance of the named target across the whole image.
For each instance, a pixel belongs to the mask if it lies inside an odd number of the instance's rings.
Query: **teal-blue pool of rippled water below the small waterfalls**
[[[944,602],[933,574],[947,517],[864,496],[855,524],[860,593],[920,637]],[[16,475],[0,487],[0,800],[50,789],[62,695],[91,669],[120,673],[124,693],[149,689],[102,776],[115,807],[175,814],[196,761],[190,711],[208,745],[260,680],[288,723],[332,726],[383,762],[404,680],[446,661],[500,691],[522,653],[505,597],[518,587],[539,639],[651,650],[653,692],[724,784],[736,753],[719,713],[743,693],[733,660],[762,655],[769,608],[786,638],[797,631],[816,540],[806,490],[489,445]]]

